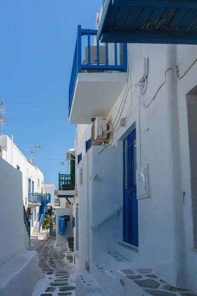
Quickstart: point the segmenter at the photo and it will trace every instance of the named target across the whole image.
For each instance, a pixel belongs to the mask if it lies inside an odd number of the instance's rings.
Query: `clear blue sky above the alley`
[[[77,25],[95,29],[101,0],[0,0],[0,101],[5,104],[4,135],[38,150],[44,183],[58,186],[67,173],[60,160],[74,147],[68,124],[68,86]],[[61,118],[46,122],[19,123]],[[29,159],[31,154],[21,151]]]

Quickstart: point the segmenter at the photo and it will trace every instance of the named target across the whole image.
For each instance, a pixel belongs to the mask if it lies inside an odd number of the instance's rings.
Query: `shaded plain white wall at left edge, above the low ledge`
[[[22,173],[0,158],[0,264],[26,248]]]

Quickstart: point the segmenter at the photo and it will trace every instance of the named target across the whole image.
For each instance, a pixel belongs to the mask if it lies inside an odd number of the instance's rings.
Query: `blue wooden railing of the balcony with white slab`
[[[78,73],[85,71],[119,71],[127,72],[127,44],[123,44],[123,62],[122,65],[118,64],[118,50],[117,43],[114,43],[114,64],[109,64],[109,52],[108,52],[108,43],[105,43],[105,64],[100,64],[100,52],[99,52],[99,40],[97,40],[97,61],[95,64],[91,64],[91,36],[97,36],[97,30],[90,29],[81,29],[81,26],[78,26],[77,39],[74,51],[74,59],[72,64],[72,72],[70,77],[69,84],[69,103],[68,111],[70,113],[70,108],[72,105],[72,98],[74,93],[75,82]],[[88,37],[88,63],[82,63],[82,36]]]

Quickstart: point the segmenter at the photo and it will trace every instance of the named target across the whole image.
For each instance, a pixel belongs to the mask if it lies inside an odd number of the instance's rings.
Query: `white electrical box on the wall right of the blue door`
[[[148,164],[136,170],[137,199],[149,198]]]

